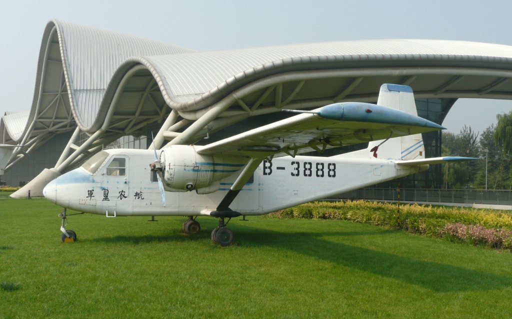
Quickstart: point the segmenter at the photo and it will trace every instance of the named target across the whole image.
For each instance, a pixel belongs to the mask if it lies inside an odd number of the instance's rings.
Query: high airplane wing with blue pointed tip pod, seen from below
[[[369,103],[336,103],[208,144],[203,155],[261,158],[444,130],[407,112]]]

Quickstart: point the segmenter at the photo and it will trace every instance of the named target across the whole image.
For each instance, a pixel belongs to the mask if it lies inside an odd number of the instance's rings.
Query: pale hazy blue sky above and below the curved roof
[[[0,114],[30,109],[50,19],[197,51],[358,39],[445,39],[512,45],[510,1],[0,0]],[[443,125],[482,132],[512,101],[460,99]]]

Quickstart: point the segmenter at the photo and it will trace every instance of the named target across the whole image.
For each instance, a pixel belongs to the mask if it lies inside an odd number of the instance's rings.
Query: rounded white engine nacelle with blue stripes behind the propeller
[[[245,158],[201,155],[196,152],[200,147],[172,145],[160,151],[163,184],[167,192],[186,192],[208,187],[212,182],[237,173],[248,162]]]

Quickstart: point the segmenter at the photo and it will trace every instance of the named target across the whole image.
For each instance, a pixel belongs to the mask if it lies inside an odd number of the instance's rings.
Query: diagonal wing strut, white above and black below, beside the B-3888
[[[260,166],[261,162],[263,162],[262,158],[251,158],[251,160],[245,165],[242,173],[238,176],[237,180],[234,181],[231,188],[228,190],[226,196],[222,199],[219,206],[217,206],[217,210],[212,211],[210,216],[214,217],[238,217],[240,214],[238,211],[232,211],[229,208],[229,205],[233,202],[233,200],[237,197],[242,187],[244,187],[245,183],[249,180],[254,171]]]

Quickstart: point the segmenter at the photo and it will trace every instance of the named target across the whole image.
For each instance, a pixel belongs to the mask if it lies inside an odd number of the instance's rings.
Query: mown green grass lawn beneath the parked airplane
[[[337,220],[78,215],[0,200],[0,318],[512,316],[512,253]],[[70,213],[70,211],[68,211]]]

